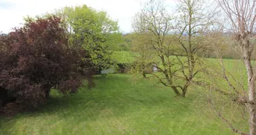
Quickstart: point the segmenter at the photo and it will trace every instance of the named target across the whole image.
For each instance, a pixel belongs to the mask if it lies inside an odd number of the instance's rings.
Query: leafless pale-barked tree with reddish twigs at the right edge
[[[243,57],[244,66],[247,69],[247,90],[244,91],[243,94],[243,104],[247,106],[248,114],[249,114],[249,133],[243,133],[240,130],[237,130],[232,126],[229,121],[227,121],[223,115],[219,114],[221,118],[229,124],[229,127],[236,133],[240,134],[249,134],[255,135],[256,134],[256,112],[255,112],[255,80],[256,80],[256,73],[255,73],[255,66],[252,64],[252,55],[254,52],[254,31],[255,31],[255,21],[256,21],[256,1],[255,0],[218,0],[219,6],[222,10],[226,13],[227,18],[230,21],[230,31],[235,37],[234,41],[236,44],[240,45],[240,55]],[[226,83],[232,87],[233,91],[236,94],[240,94],[240,91],[237,91],[236,87],[229,81],[227,77],[228,72],[226,71],[225,67],[222,63],[222,74],[226,80]],[[229,73],[229,76],[232,76],[232,73]],[[232,76],[233,77],[233,76]],[[233,78],[233,80],[237,80]],[[242,88],[243,85],[236,81],[238,85]],[[246,89],[246,88],[245,88]]]

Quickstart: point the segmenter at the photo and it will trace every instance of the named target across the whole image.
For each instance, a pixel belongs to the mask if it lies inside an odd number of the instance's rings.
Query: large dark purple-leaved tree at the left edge
[[[86,52],[68,44],[58,17],[27,20],[1,39],[0,87],[14,94],[20,105],[44,104],[52,87],[62,94],[80,87],[78,71]]]

